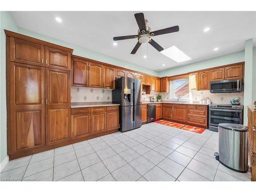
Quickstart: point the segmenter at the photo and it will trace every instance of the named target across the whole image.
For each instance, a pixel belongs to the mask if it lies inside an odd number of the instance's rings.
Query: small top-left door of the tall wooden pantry
[[[45,46],[10,37],[10,61],[44,66]]]

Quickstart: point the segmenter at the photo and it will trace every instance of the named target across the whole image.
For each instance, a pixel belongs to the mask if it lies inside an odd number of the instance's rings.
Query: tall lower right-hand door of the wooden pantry
[[[46,68],[46,142],[71,139],[70,71]]]

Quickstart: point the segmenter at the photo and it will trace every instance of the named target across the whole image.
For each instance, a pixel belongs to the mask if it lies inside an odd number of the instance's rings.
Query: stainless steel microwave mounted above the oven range
[[[232,93],[242,91],[242,79],[229,79],[210,82],[210,93]]]

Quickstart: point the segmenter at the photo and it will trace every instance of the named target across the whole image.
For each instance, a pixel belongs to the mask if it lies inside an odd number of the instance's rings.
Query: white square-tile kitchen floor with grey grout
[[[2,181],[250,181],[214,158],[218,133],[157,123],[10,161]]]

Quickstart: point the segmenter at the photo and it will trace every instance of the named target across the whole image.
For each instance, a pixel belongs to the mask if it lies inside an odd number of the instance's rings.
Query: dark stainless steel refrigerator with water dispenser
[[[120,131],[136,129],[142,125],[141,120],[141,80],[120,77],[115,80],[112,90],[112,102],[120,104]]]

